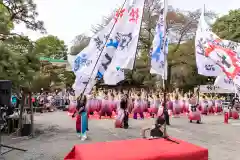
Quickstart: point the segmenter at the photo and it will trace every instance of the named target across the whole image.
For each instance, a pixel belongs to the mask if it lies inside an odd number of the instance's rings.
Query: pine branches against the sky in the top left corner
[[[23,23],[28,29],[45,33],[43,22],[37,20],[37,16],[36,4],[33,0],[1,0],[0,19],[3,21],[0,25],[1,29],[4,28],[4,30],[0,32],[0,40],[4,41],[9,36],[16,35],[16,33],[10,33],[9,30],[13,28],[14,23]]]

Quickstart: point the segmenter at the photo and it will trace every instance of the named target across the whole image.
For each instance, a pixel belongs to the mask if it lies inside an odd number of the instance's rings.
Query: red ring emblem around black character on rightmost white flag
[[[240,72],[240,63],[236,52],[219,45],[208,43],[205,55],[219,65],[228,78],[234,79]]]

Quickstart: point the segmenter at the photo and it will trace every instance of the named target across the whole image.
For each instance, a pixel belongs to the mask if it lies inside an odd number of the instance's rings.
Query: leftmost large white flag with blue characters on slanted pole
[[[124,1],[120,8],[121,11],[126,7],[127,2],[128,0]],[[95,85],[94,81],[100,68],[107,69],[111,56],[106,51],[109,52],[109,50],[112,51],[118,47],[119,42],[113,41],[111,35],[119,27],[119,21],[121,20],[122,22],[123,15],[117,12],[116,17],[105,28],[94,35],[88,46],[76,56],[73,64],[73,72],[76,75],[73,89],[77,96],[85,94],[88,88],[91,90]]]

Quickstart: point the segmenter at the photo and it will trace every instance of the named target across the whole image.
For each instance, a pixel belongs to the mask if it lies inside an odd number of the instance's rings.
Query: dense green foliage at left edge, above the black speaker
[[[40,62],[26,37],[13,37],[0,43],[0,79],[11,80],[14,87],[29,87]]]

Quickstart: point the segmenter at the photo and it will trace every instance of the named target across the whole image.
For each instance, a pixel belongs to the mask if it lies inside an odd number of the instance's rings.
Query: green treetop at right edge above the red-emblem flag
[[[212,29],[220,38],[240,42],[240,9],[218,18]]]

